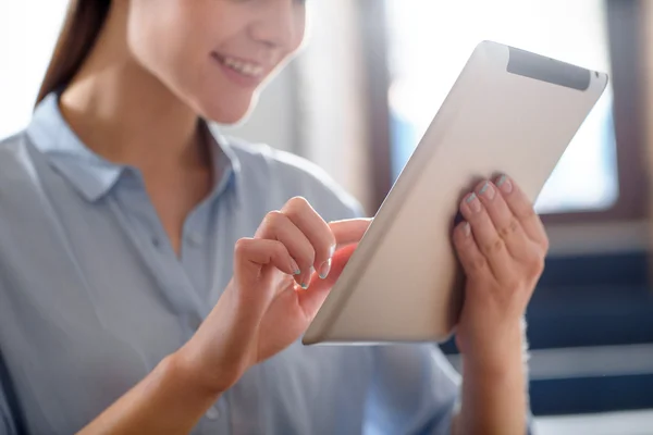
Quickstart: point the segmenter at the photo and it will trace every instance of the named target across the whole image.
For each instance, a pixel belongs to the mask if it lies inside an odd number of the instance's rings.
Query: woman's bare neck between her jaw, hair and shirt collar
[[[61,96],[63,116],[109,161],[155,173],[207,166],[197,115],[136,63],[125,26],[126,12],[112,8],[95,48]]]

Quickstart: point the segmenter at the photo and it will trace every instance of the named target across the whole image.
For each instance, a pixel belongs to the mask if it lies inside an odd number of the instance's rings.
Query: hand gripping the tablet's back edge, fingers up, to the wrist
[[[491,369],[521,350],[521,323],[549,240],[532,203],[505,175],[480,183],[460,212],[454,245],[467,284],[456,339],[463,355]]]

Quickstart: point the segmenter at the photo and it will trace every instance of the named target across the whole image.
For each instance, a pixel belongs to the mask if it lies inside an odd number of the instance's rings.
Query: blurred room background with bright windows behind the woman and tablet
[[[0,0],[0,137],[29,120],[65,4]],[[312,0],[309,14],[307,47],[223,128],[317,162],[370,215],[479,41],[611,75],[537,202],[552,249],[528,312],[531,407],[541,434],[653,434],[653,3]]]

